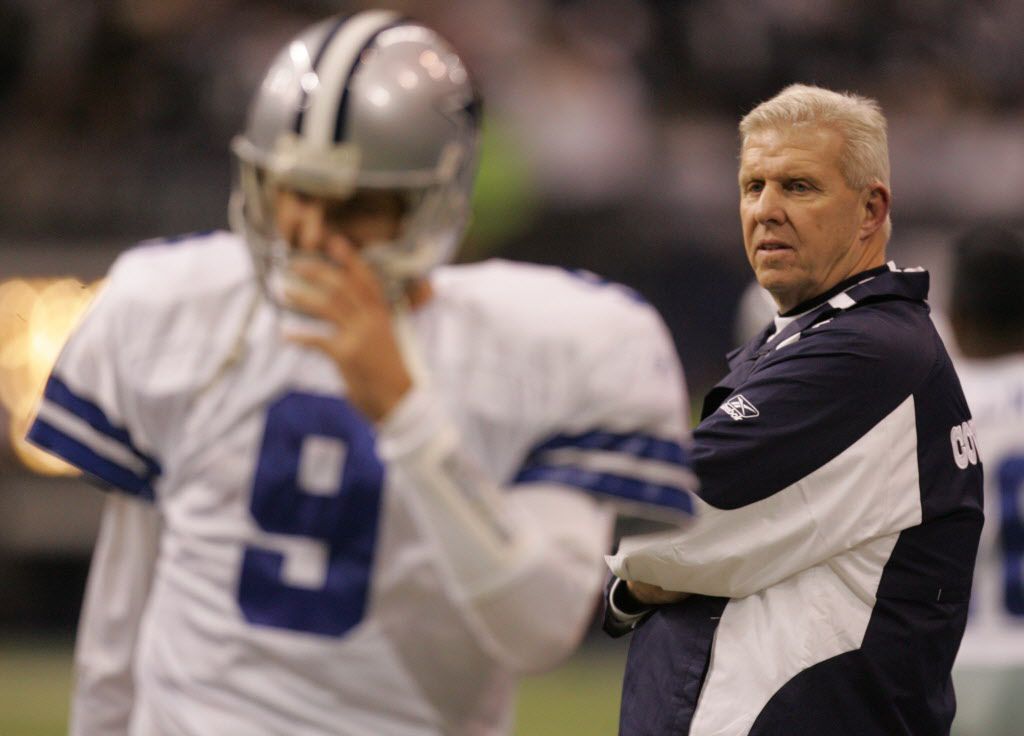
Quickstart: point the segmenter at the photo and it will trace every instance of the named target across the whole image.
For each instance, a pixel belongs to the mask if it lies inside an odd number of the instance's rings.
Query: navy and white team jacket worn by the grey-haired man
[[[982,473],[927,294],[865,271],[730,354],[697,522],[611,561],[696,594],[636,627],[621,734],[949,732]]]

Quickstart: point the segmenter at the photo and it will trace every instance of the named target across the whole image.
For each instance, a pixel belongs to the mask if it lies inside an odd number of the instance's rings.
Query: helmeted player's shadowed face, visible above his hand
[[[281,236],[293,252],[325,254],[331,236],[344,237],[360,250],[371,243],[395,240],[406,203],[395,191],[359,189],[347,199],[313,197],[280,189],[274,217]]]

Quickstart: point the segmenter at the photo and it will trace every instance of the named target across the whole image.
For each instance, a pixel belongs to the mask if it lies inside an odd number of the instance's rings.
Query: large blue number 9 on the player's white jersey
[[[347,402],[289,393],[270,405],[250,505],[269,549],[245,551],[246,620],[329,637],[359,622],[383,481],[371,429]]]

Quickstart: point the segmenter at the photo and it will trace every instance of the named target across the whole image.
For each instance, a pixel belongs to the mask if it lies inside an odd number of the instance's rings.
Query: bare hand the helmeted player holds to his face
[[[294,264],[309,288],[291,288],[287,296],[296,309],[336,329],[327,335],[288,337],[331,357],[349,400],[380,422],[413,385],[395,339],[391,307],[373,269],[344,235],[326,235],[323,250],[327,258]]]

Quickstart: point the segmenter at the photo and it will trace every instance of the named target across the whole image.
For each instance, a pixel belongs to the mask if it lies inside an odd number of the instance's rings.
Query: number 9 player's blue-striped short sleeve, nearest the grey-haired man
[[[513,483],[587,492],[620,516],[685,523],[693,512],[689,399],[671,336],[637,305],[575,377],[560,425],[530,448]]]

